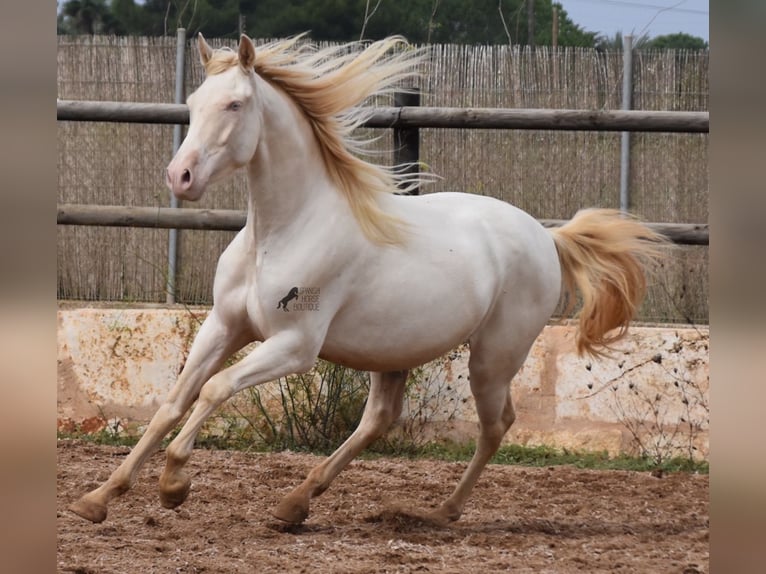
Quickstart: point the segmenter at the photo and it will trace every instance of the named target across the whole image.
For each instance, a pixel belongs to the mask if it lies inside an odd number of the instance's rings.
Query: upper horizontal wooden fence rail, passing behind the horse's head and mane
[[[371,128],[470,128],[708,133],[709,112],[376,107]],[[60,121],[188,124],[184,104],[57,100]]]

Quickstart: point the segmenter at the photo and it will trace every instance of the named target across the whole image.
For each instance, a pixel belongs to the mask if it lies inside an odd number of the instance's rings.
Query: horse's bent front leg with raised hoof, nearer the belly
[[[160,477],[160,499],[166,508],[181,504],[191,480],[183,471],[203,423],[237,392],[310,370],[319,353],[298,331],[284,331],[266,339],[237,364],[213,376],[200,390],[199,399],[178,436],[168,445],[167,462]]]

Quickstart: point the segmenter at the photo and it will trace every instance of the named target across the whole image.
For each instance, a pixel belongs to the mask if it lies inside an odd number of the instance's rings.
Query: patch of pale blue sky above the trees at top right
[[[589,32],[640,37],[684,32],[710,41],[709,0],[557,0]]]

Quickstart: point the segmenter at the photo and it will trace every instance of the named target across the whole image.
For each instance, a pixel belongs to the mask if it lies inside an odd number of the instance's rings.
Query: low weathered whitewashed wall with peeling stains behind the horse
[[[206,310],[58,311],[58,428],[140,427],[183,366]],[[574,327],[548,326],[513,382],[507,442],[572,450],[708,457],[708,327],[634,326],[612,358],[577,357]],[[467,347],[414,371],[408,412],[432,436],[468,440],[476,414]]]

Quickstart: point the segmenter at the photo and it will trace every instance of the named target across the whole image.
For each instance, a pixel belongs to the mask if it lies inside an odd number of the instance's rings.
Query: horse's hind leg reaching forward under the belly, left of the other
[[[370,394],[359,426],[332,455],[311,470],[300,486],[282,499],[273,511],[276,518],[292,524],[306,519],[311,499],[327,490],[346,465],[399,418],[406,382],[407,371],[370,373]]]

